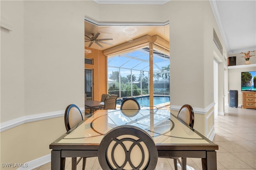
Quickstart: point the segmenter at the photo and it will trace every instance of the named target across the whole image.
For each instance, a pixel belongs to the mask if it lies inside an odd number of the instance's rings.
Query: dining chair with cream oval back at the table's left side
[[[66,107],[64,115],[66,130],[69,131],[70,129],[78,125],[78,123],[80,123],[81,121],[83,121],[83,116],[79,107],[75,104],[68,105],[68,107]],[[82,170],[85,169],[86,157],[80,157],[78,160],[75,157],[72,158],[72,170],[76,170],[76,166],[80,162],[80,160],[83,160]]]

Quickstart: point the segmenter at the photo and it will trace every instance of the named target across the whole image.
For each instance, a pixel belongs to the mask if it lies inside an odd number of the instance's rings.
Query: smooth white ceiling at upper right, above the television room
[[[228,54],[256,49],[256,1],[210,1]]]

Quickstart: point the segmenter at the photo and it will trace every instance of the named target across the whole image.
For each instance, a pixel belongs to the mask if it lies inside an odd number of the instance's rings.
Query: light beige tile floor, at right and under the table
[[[256,170],[256,110],[225,107],[225,112],[215,119],[218,170]],[[70,162],[67,158],[65,170],[71,170]],[[50,166],[49,162],[34,170],[50,170]],[[82,161],[77,169],[82,169]],[[86,170],[102,170],[96,157],[87,158]],[[156,170],[174,170],[173,160],[159,158]],[[201,159],[187,158],[187,170],[202,170]]]

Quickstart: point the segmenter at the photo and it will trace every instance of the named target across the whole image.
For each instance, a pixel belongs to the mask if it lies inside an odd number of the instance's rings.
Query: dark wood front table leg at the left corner
[[[51,170],[64,170],[66,158],[61,157],[60,150],[52,150]]]

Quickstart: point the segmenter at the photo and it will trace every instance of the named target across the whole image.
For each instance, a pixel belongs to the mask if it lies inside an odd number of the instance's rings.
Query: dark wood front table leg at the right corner
[[[206,158],[202,158],[203,170],[217,170],[216,151],[207,151]]]

